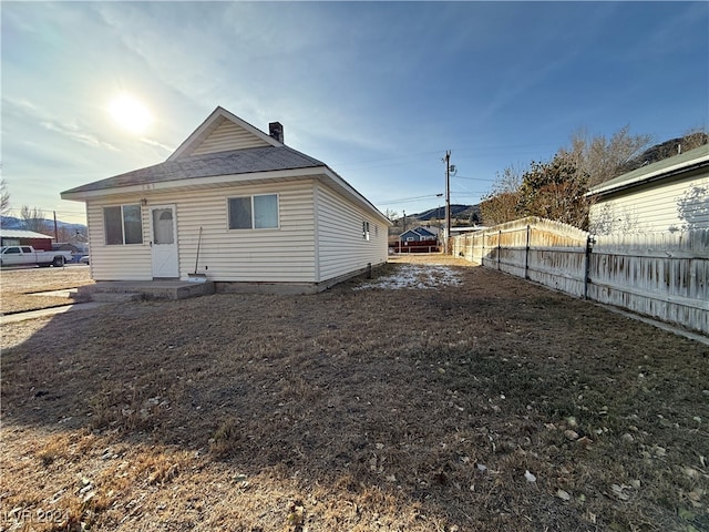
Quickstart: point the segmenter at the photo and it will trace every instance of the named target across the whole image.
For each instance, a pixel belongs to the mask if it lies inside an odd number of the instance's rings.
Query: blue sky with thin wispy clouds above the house
[[[709,125],[708,2],[12,2],[2,175],[13,214],[85,222],[60,192],[164,161],[217,106],[382,212],[477,203],[505,167],[625,125]],[[122,93],[148,110],[116,124]]]

